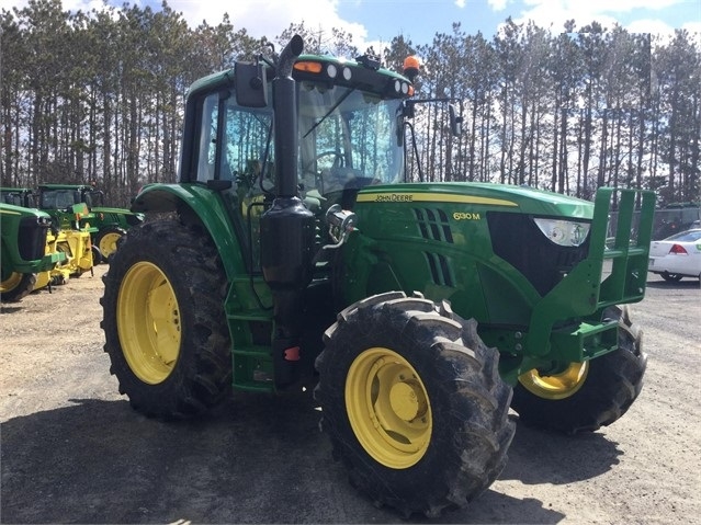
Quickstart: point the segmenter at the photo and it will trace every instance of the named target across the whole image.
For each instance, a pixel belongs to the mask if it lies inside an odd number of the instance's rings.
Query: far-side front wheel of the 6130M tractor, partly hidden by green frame
[[[637,399],[647,366],[642,331],[627,308],[608,308],[604,317],[619,321],[618,350],[572,363],[557,375],[531,370],[519,377],[511,407],[523,424],[565,434],[593,432],[620,419]]]

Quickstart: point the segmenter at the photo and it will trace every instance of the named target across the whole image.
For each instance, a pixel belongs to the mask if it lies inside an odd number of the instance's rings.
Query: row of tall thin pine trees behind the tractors
[[[418,162],[434,181],[528,184],[591,198],[597,187],[655,190],[660,204],[699,201],[701,35],[634,34],[569,21],[554,33],[507,19],[493,37],[459,23],[431,43],[403,35],[359,50],[341,30],[291,24],[253,38],[228,15],[190,27],[166,1],[65,11],[32,0],[0,12],[3,186],[95,182],[114,205],[145,183],[174,182],[184,93],[197,78],[253,59],[294,33],[306,53],[422,59],[417,98],[450,98],[416,125]]]

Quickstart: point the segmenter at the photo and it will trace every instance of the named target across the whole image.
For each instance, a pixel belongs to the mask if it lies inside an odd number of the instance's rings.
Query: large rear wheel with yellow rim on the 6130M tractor
[[[204,232],[172,220],[135,227],[103,281],[104,351],[134,409],[182,419],[228,393],[226,278]]]

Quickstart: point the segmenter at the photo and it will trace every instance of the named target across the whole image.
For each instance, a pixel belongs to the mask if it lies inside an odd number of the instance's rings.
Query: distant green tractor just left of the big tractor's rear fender
[[[144,221],[143,214],[103,205],[103,192],[90,184],[41,184],[38,207],[52,212],[65,212],[76,204],[88,206],[88,214],[79,220],[79,228],[89,225],[93,246],[94,264],[109,262],[126,231]],[[70,220],[70,217],[68,217]]]

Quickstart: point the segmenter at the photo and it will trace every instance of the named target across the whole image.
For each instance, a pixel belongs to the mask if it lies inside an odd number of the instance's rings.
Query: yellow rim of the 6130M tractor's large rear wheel
[[[132,372],[149,385],[166,380],[180,354],[180,308],[170,281],[155,264],[136,263],[124,275],[117,330]]]

